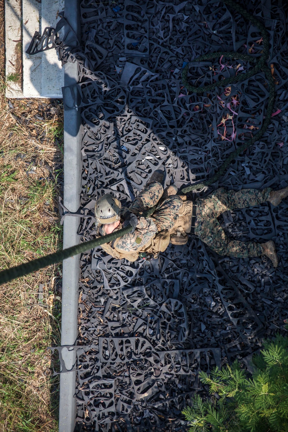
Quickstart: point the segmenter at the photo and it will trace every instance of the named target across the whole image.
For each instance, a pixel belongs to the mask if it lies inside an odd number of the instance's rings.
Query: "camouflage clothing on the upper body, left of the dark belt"
[[[158,181],[154,181],[146,187],[136,200],[133,201],[129,210],[136,216],[143,213],[158,203],[163,194],[163,187]],[[177,195],[166,198],[149,218],[139,218],[139,223],[132,234],[125,234],[117,242],[117,249],[122,251],[136,251],[142,248],[157,232],[171,228],[177,221],[179,209],[183,201]],[[127,211],[123,207],[121,214]],[[120,224],[121,225],[121,224]],[[118,229],[122,228],[122,225]]]

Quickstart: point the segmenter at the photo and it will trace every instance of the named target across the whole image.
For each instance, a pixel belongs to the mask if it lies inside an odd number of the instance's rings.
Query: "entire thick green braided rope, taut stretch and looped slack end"
[[[231,6],[233,9],[235,9],[237,12],[241,13],[242,16],[244,16],[245,19],[258,27],[260,30],[262,37],[263,37],[263,54],[260,57],[260,59],[255,60],[253,57],[250,57],[246,54],[240,54],[237,52],[227,52],[227,51],[218,51],[212,54],[205,54],[203,56],[200,56],[196,58],[195,61],[201,61],[201,60],[209,60],[209,59],[215,59],[219,56],[225,56],[230,57],[232,59],[241,59],[241,60],[250,60],[255,62],[255,66],[246,73],[242,73],[238,76],[232,76],[229,78],[225,78],[222,81],[219,81],[218,83],[210,84],[208,86],[204,87],[193,87],[191,86],[187,81],[187,73],[189,70],[189,64],[184,68],[182,73],[182,81],[184,83],[184,86],[187,88],[190,92],[196,92],[196,93],[204,93],[211,90],[214,90],[216,87],[226,87],[228,84],[234,84],[237,83],[240,80],[250,78],[250,76],[253,76],[256,72],[259,70],[263,70],[266,77],[269,81],[269,99],[268,99],[268,108],[266,113],[266,118],[263,122],[263,125],[261,129],[252,137],[250,140],[248,140],[246,143],[244,143],[242,146],[238,147],[237,150],[231,153],[230,156],[225,160],[225,162],[222,164],[219,171],[209,180],[203,181],[202,183],[193,184],[187,187],[184,187],[179,192],[180,194],[187,194],[190,191],[200,189],[202,187],[210,186],[212,183],[215,183],[220,176],[223,174],[223,172],[226,170],[228,165],[232,162],[233,159],[235,159],[237,156],[240,155],[245,149],[252,146],[252,144],[259,140],[262,136],[265,130],[267,129],[271,116],[272,116],[272,110],[274,105],[274,99],[275,99],[275,88],[274,88],[274,79],[271,73],[271,69],[267,66],[265,63],[266,60],[269,57],[269,36],[268,33],[264,27],[264,25],[258,21],[255,17],[250,15],[246,10],[244,10],[241,6],[234,3],[234,1],[231,0],[223,0],[224,3],[226,3],[228,6]],[[146,212],[144,212],[141,216],[142,217],[149,217],[154,213],[157,206],[154,206],[150,209],[148,209]],[[11,267],[7,270],[2,270],[0,272],[0,285],[6,282],[9,282],[10,280],[16,279],[17,277],[25,276],[26,274],[35,272],[41,268],[47,267],[51,264],[59,263],[60,261],[65,260],[66,258],[72,257],[77,254],[81,254],[82,252],[89,251],[90,249],[96,248],[98,246],[103,245],[104,243],[109,243],[110,241],[115,240],[118,237],[122,237],[125,234],[128,234],[130,232],[132,226],[128,225],[125,228],[122,228],[118,230],[117,232],[113,232],[111,234],[105,235],[104,237],[98,237],[94,240],[85,241],[84,243],[81,243],[80,245],[72,246],[71,248],[64,249],[62,251],[57,251],[54,254],[46,255],[45,257],[37,258],[36,260],[28,261],[28,263],[20,264],[16,267]]]

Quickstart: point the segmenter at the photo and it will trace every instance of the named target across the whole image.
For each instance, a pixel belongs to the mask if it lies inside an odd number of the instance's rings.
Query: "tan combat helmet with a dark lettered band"
[[[120,220],[121,203],[113,195],[105,194],[95,204],[95,217],[101,224]]]

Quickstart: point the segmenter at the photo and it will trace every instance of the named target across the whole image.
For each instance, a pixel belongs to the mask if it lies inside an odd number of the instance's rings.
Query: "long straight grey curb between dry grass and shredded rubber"
[[[65,0],[65,17],[79,37],[79,2]],[[66,29],[65,29],[66,32]],[[64,86],[78,83],[78,67],[76,63],[64,66]],[[81,118],[76,110],[64,111],[64,206],[76,212],[80,204],[81,191]],[[79,217],[66,216],[63,222],[63,249],[80,243],[77,229]],[[63,260],[62,287],[62,326],[61,345],[73,345],[78,336],[78,289],[79,289],[79,258],[80,254]],[[66,367],[71,368],[76,353],[68,352],[65,359]],[[60,375],[60,406],[59,432],[73,432],[76,419],[76,372]]]

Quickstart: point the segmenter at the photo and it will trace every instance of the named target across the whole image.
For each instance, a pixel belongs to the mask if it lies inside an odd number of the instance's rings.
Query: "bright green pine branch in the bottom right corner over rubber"
[[[183,411],[192,423],[190,432],[288,432],[288,337],[277,335],[263,347],[253,356],[252,378],[239,362],[199,374],[220,399],[212,405],[195,397],[193,407]]]

